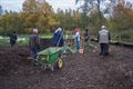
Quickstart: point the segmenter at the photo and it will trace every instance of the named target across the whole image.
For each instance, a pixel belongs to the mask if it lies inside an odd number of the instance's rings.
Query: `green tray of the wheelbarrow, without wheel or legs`
[[[50,47],[40,52],[38,52],[39,61],[42,65],[53,65],[62,52],[60,47]]]

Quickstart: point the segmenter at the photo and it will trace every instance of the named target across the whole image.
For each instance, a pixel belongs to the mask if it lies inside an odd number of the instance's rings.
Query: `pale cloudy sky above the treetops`
[[[0,4],[3,10],[12,10],[18,12],[22,10],[23,2],[24,0],[0,0]],[[47,2],[53,7],[54,11],[58,8],[63,10],[69,8],[76,9],[75,0],[47,0]]]

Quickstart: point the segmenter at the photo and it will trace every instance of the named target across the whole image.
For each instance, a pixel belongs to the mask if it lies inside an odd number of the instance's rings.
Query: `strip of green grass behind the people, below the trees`
[[[18,41],[17,44],[18,46],[27,46],[28,41],[29,41],[29,37],[30,34],[18,34]],[[40,34],[39,36],[42,39],[52,39],[53,34]],[[73,37],[68,34],[68,39],[72,39]],[[113,41],[117,41],[117,39],[113,39]],[[122,42],[127,43],[127,44],[133,44],[133,40],[132,39],[123,39]],[[2,37],[0,36],[0,47],[9,47],[9,37]]]

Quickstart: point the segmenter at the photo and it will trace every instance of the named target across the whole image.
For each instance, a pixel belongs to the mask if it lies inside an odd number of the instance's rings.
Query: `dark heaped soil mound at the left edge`
[[[19,68],[20,65],[25,62],[29,56],[27,47],[18,47],[13,50],[1,50],[0,51],[0,76],[10,75]]]

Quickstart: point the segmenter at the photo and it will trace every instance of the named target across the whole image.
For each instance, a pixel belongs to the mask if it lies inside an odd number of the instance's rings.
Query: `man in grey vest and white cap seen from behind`
[[[105,26],[101,27],[101,30],[99,31],[98,34],[98,41],[101,47],[101,52],[100,56],[108,56],[109,55],[109,43],[111,40],[111,36],[109,30],[106,30]]]

